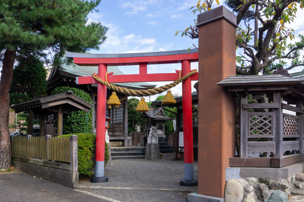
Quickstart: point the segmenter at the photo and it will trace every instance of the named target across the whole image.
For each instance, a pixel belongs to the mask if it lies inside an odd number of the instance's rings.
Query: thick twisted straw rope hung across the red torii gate
[[[108,83],[107,81],[103,81],[96,74],[92,74],[92,76],[98,82],[102,83],[103,85],[106,85],[107,87],[109,87],[113,91],[125,94],[127,96],[138,96],[138,97],[141,97],[141,96],[149,96],[149,95],[155,95],[155,94],[162,93],[162,92],[164,92],[164,91],[166,91],[166,90],[168,90],[168,89],[176,86],[177,84],[179,84],[180,82],[186,80],[187,78],[191,77],[192,75],[194,75],[197,72],[198,72],[197,70],[193,70],[193,71],[187,73],[186,75],[184,75],[183,77],[177,79],[173,83],[166,84],[166,85],[160,86],[158,88],[146,89],[146,90],[133,90],[133,89],[128,89],[128,88],[122,88],[122,87],[113,85],[111,83]]]

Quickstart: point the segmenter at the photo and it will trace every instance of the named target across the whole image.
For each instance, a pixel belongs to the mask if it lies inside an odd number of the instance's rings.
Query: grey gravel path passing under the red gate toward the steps
[[[107,183],[81,180],[78,190],[112,198],[113,201],[185,201],[186,195],[197,187],[180,186],[184,179],[183,161],[173,161],[173,154],[159,160],[115,160],[108,163],[104,172]],[[198,164],[194,162],[195,179]]]

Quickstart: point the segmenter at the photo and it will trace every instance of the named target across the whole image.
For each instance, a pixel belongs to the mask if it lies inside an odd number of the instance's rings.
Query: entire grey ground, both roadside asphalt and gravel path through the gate
[[[179,185],[184,178],[183,161],[172,156],[159,160],[115,160],[105,168],[107,183],[80,181],[75,189],[22,172],[0,172],[0,201],[174,201],[184,202],[197,187]],[[194,163],[197,179],[197,162]]]

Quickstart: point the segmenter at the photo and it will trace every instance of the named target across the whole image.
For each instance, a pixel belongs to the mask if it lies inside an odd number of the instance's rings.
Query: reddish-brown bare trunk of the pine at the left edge
[[[11,166],[11,141],[9,132],[9,89],[13,78],[16,51],[4,53],[0,79],[0,169]]]

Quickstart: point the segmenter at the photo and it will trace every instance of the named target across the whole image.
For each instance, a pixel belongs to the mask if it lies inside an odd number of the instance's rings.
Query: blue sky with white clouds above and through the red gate
[[[107,39],[100,45],[99,51],[92,50],[91,53],[141,53],[193,47],[193,43],[197,45],[197,39],[180,37],[180,34],[175,36],[175,32],[194,24],[193,20],[196,16],[189,11],[189,8],[196,4],[197,0],[102,0],[97,7],[99,12],[89,14],[89,21],[100,21],[107,26]],[[220,5],[223,5],[222,0]],[[295,36],[304,34],[302,19],[304,19],[304,11],[298,9],[297,18],[291,24]],[[125,74],[138,73],[138,67],[121,66],[120,68]],[[175,72],[175,69],[181,69],[180,64],[148,66],[148,73]],[[192,63],[192,69],[198,69],[197,63]],[[302,69],[303,67],[299,67],[290,72]],[[168,82],[157,84],[166,83]],[[194,90],[193,88],[192,91]],[[181,84],[172,88],[172,93],[181,94]],[[156,97],[151,97],[151,100]]]

